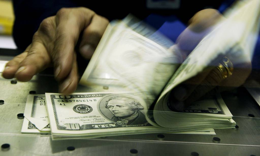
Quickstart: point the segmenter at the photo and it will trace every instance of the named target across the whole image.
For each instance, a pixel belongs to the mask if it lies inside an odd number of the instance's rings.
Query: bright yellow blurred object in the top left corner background
[[[14,24],[12,1],[0,0],[0,34],[11,35]]]

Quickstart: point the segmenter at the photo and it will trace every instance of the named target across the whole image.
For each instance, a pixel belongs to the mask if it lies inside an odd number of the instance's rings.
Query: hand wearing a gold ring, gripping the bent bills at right
[[[218,21],[223,20],[223,18],[214,9],[199,11],[191,18],[191,24],[177,39],[177,46],[184,59],[202,38],[213,29]],[[239,46],[232,48],[243,50],[243,47]],[[251,73],[251,68],[251,60],[243,51],[241,51],[240,55],[220,55],[216,60],[212,61],[210,67],[179,84],[171,91],[170,107],[173,110],[183,111],[192,102],[199,100],[203,96],[223,91],[227,88],[241,86]]]

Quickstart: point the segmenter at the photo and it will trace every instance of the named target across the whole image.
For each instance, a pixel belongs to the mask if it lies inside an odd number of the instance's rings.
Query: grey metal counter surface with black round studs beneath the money
[[[0,56],[0,68],[13,56]],[[5,61],[3,61],[5,60]],[[0,70],[1,72],[1,70]],[[259,155],[260,107],[245,88],[222,93],[238,128],[215,129],[216,135],[202,134],[139,134],[95,139],[74,138],[52,140],[50,134],[22,134],[23,113],[27,95],[58,92],[52,74],[41,73],[29,82],[11,83],[0,77],[0,155]],[[100,90],[102,88],[98,88]],[[114,91],[109,88],[104,91]],[[79,86],[76,92],[95,92]],[[254,116],[254,117],[250,117]],[[214,137],[220,139],[213,141]],[[68,147],[74,147],[69,151]],[[72,148],[73,149],[73,148]]]

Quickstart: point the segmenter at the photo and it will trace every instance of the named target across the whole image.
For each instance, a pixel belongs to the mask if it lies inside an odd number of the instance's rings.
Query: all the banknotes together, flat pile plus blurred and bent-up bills
[[[22,132],[101,137],[233,128],[236,123],[219,94],[174,112],[171,92],[220,55],[240,61],[250,57],[259,6],[258,0],[235,4],[185,60],[174,43],[145,23],[131,16],[111,22],[80,80],[96,92],[29,95]]]

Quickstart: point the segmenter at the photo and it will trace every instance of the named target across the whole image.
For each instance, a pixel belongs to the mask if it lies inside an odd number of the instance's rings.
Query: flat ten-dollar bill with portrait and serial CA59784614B
[[[126,93],[46,93],[54,135],[121,135],[171,132],[152,126],[144,100]]]

